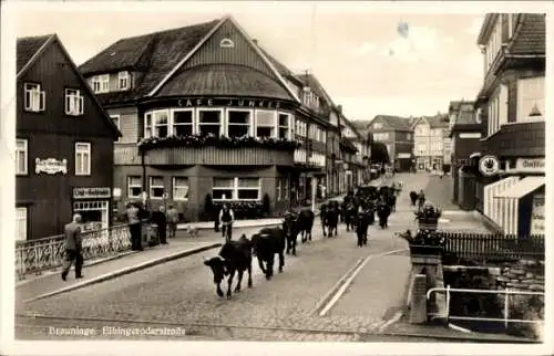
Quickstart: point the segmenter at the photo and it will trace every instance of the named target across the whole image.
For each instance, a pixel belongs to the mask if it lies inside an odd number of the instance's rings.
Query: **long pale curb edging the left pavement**
[[[71,291],[74,291],[74,290],[78,290],[78,289],[82,289],[84,286],[89,286],[89,285],[92,285],[92,284],[96,284],[96,283],[105,282],[105,281],[109,281],[109,280],[113,280],[113,279],[115,279],[117,276],[122,276],[122,275],[125,275],[125,274],[130,274],[130,273],[133,273],[133,272],[145,270],[147,268],[151,268],[151,266],[154,266],[154,265],[157,265],[157,264],[162,264],[162,263],[165,263],[165,262],[170,262],[170,261],[173,261],[173,260],[177,260],[177,259],[181,259],[181,258],[186,258],[186,256],[188,256],[191,254],[196,254],[196,253],[199,253],[199,252],[203,252],[203,251],[206,251],[206,250],[212,250],[212,249],[218,248],[220,245],[222,245],[222,243],[217,242],[217,243],[212,243],[212,244],[203,245],[201,248],[194,248],[194,249],[188,249],[188,250],[185,250],[185,251],[175,252],[173,254],[165,255],[163,258],[158,258],[158,259],[154,259],[154,260],[150,260],[150,261],[143,262],[143,263],[137,264],[137,265],[126,266],[126,268],[116,270],[114,272],[105,273],[105,274],[99,275],[99,276],[96,276],[94,279],[91,279],[91,280],[88,280],[88,281],[83,281],[81,283],[75,283],[75,284],[69,285],[66,287],[63,287],[61,290],[58,290],[58,291],[53,291],[53,292],[49,292],[49,293],[44,293],[44,294],[34,296],[34,297],[31,297],[29,300],[25,300],[24,303],[34,302],[34,301],[42,300],[42,299],[45,299],[45,297],[49,297],[49,296],[58,295],[58,294],[65,293],[65,292],[71,292]]]

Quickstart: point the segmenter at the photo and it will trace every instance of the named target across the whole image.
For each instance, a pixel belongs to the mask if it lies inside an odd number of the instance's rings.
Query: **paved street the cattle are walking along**
[[[398,224],[388,230],[371,227],[366,248],[357,248],[355,234],[347,233],[343,226],[339,237],[322,239],[318,218],[315,240],[300,245],[297,256],[286,258],[283,274],[268,282],[255,264],[254,287],[248,290],[245,280],[243,291],[230,301],[216,296],[212,272],[203,264],[203,256],[217,252],[211,250],[24,305],[19,303],[16,336],[41,338],[49,335],[50,326],[100,331],[103,326],[165,325],[186,328],[187,335],[178,336],[186,339],[369,341],[365,333],[378,331],[403,307],[409,258],[406,253],[380,254],[407,249],[407,243],[394,239],[393,232],[414,227],[408,192],[425,186],[429,178],[398,175],[393,179],[404,182],[398,211],[392,216]],[[243,231],[250,234],[255,230]],[[235,235],[238,234],[237,230]],[[203,238],[206,242],[211,239],[220,238]],[[184,239],[172,242],[170,248],[192,243]],[[337,282],[368,256],[363,268],[351,275],[346,292],[337,294]],[[110,263],[117,262],[100,264],[98,269],[113,269]],[[85,274],[96,273],[92,269],[85,270]],[[62,283],[58,275],[52,281]],[[329,304],[329,295],[337,295],[338,301],[319,316],[322,306]]]

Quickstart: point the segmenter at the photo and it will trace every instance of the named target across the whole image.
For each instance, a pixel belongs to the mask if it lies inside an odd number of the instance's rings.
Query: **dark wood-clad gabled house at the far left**
[[[113,147],[120,133],[58,35],[17,41],[17,240],[111,223]]]

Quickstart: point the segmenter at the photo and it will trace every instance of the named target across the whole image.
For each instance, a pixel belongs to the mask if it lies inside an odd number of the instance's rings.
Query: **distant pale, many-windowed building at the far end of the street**
[[[444,165],[449,165],[451,150],[448,115],[418,117],[412,128],[416,169],[418,171],[444,170]],[[445,156],[449,157],[447,161]]]

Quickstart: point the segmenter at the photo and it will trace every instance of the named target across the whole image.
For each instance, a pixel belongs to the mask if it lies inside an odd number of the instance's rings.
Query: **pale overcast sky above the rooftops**
[[[456,11],[454,4],[442,13],[402,9],[375,13],[361,2],[339,9],[317,2],[176,1],[152,8],[127,1],[123,7],[27,7],[14,19],[18,36],[58,33],[80,64],[119,39],[230,13],[289,69],[310,70],[350,119],[432,115],[445,112],[452,100],[473,100],[483,77],[476,35],[484,15],[449,14]],[[407,36],[399,33],[399,23],[408,24]]]

